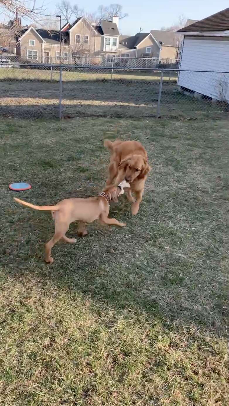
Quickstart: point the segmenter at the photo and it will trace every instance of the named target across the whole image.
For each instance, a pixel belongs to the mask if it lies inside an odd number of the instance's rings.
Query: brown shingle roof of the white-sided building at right
[[[178,32],[199,32],[199,31],[225,31],[229,30],[229,8],[219,11],[210,17],[197,21],[188,27],[181,28]]]

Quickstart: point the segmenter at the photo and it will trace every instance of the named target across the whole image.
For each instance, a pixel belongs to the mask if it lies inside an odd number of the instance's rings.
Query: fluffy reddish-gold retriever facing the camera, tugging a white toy
[[[130,184],[127,189],[127,199],[132,202],[131,211],[138,213],[147,173],[151,170],[148,164],[147,152],[138,141],[104,140],[104,147],[111,153],[109,177],[107,185],[118,185],[123,179]],[[136,201],[131,192],[136,195]]]

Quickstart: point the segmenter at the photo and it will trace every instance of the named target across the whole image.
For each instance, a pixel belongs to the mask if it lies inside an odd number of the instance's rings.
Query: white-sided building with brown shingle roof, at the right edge
[[[177,84],[197,97],[229,103],[229,8],[179,32],[184,33],[180,61],[184,71],[179,72]]]

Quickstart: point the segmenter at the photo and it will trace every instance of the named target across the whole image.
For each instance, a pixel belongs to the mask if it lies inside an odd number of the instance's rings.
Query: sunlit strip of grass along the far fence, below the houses
[[[55,68],[54,68],[55,69]],[[59,80],[59,71],[53,69],[52,73],[50,69],[0,69],[0,80],[13,79],[13,80]],[[78,68],[79,71],[63,71],[63,81],[76,81],[76,80],[108,80],[111,78],[111,70],[101,69],[95,67],[89,71],[87,68]],[[116,73],[118,72],[118,73]],[[113,79],[125,79],[125,80],[160,80],[160,71],[115,71],[113,73]],[[164,72],[164,80],[177,80],[177,73],[171,71],[171,73]]]

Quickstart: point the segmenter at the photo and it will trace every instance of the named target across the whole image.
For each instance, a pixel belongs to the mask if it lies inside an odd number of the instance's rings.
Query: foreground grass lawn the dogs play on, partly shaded
[[[229,143],[226,120],[0,119],[0,403],[229,403]],[[100,193],[103,139],[140,140],[153,171],[136,217],[56,244],[37,204]],[[11,192],[13,181],[32,189]],[[71,225],[69,236],[75,237]]]

